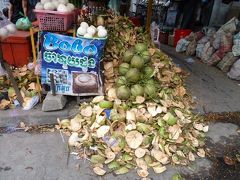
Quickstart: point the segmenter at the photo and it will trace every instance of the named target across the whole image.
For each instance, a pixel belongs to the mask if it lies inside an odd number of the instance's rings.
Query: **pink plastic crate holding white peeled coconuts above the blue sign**
[[[67,31],[75,20],[75,11],[61,13],[58,11],[34,10],[39,29],[42,31]]]

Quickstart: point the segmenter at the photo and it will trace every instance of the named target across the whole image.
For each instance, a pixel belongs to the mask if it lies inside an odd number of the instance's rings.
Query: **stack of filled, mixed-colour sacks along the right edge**
[[[237,23],[236,18],[233,18],[224,24],[217,32],[213,28],[203,28],[202,32],[205,36],[199,36],[201,39],[198,41],[194,38],[198,33],[191,33],[184,39],[179,40],[176,51],[186,51],[186,54],[191,56],[196,52],[196,57],[201,59],[202,62],[209,66],[217,66],[220,70],[227,73],[240,56],[240,33],[237,31]],[[187,44],[183,43],[185,41]],[[183,44],[184,48],[181,46],[179,51],[180,45]],[[235,75],[228,73],[231,79],[238,79],[235,78],[238,77],[235,73],[238,70],[236,64],[232,71]]]

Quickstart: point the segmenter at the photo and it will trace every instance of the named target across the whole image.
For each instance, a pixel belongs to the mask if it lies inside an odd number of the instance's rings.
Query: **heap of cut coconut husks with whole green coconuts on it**
[[[81,104],[74,118],[58,120],[70,149],[89,159],[97,175],[136,168],[143,178],[151,168],[162,173],[167,164],[204,157],[208,126],[191,112],[181,69],[127,18],[112,15],[106,27],[106,95]],[[133,68],[138,77],[129,75]]]

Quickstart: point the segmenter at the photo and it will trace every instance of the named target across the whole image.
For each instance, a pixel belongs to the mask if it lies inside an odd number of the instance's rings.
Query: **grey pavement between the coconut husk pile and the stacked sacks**
[[[240,111],[240,82],[229,79],[225,73],[216,67],[203,64],[196,57],[177,53],[173,47],[161,44],[160,49],[168,54],[175,64],[190,73],[186,79],[186,87],[195,98],[197,112]]]

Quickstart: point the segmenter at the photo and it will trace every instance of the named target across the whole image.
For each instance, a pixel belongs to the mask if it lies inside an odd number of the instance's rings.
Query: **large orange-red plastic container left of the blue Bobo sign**
[[[32,58],[30,33],[17,31],[2,42],[3,59],[12,66],[22,67]]]

